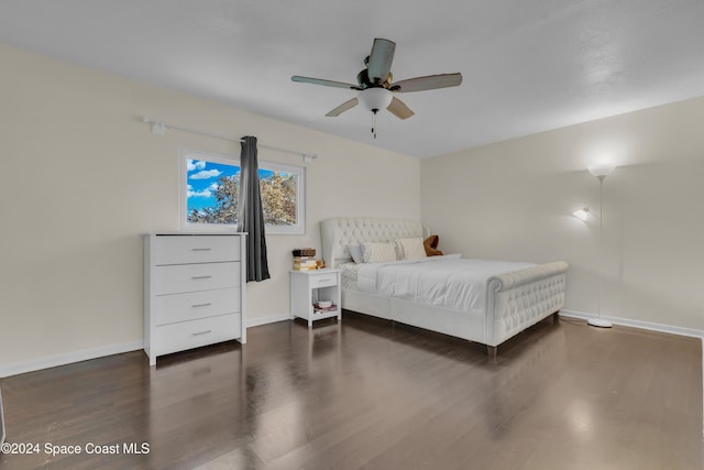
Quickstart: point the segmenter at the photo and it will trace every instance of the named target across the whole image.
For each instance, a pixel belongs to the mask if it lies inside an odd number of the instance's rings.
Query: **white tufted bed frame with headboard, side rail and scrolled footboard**
[[[322,256],[330,267],[350,262],[349,244],[392,242],[429,236],[419,221],[340,217],[320,222]],[[487,280],[484,315],[433,307],[400,298],[342,288],[342,308],[463,338],[487,346],[496,356],[498,345],[564,306],[568,263],[557,261]]]

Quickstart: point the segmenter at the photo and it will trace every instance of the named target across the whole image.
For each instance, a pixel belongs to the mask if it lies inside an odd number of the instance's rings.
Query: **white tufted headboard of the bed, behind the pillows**
[[[320,222],[322,259],[328,267],[352,259],[348,244],[391,242],[399,238],[427,238],[430,228],[417,220],[336,217]]]

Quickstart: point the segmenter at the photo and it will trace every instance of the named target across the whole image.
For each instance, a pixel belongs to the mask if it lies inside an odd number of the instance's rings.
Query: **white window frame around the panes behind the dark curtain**
[[[185,231],[237,231],[233,223],[193,223],[188,221],[188,160],[205,160],[223,165],[239,166],[239,157],[206,150],[196,150],[186,146],[178,147],[178,220],[179,227]],[[274,173],[290,173],[296,178],[296,223],[293,226],[273,226],[267,223],[266,234],[305,234],[306,233],[306,167],[290,165],[267,160],[258,161],[260,170]]]

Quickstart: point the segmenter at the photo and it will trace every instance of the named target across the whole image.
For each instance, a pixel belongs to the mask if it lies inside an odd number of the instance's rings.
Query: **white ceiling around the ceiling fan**
[[[290,81],[354,83],[374,37],[395,80],[464,77],[376,140]],[[0,0],[0,41],[419,157],[704,95],[704,0]]]

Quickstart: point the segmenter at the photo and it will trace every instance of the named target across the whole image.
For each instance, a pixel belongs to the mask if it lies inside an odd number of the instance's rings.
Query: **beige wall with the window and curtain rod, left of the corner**
[[[246,287],[252,324],[288,314],[290,250],[320,249],[319,220],[419,217],[416,159],[9,46],[0,63],[0,376],[141,347],[141,236],[178,230],[178,146],[239,155],[143,114],[319,155],[306,234],[268,236],[272,278]]]

